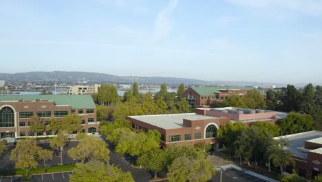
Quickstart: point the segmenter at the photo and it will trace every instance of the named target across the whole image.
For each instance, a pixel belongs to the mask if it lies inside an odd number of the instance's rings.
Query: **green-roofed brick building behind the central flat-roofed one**
[[[219,103],[225,101],[232,94],[238,94],[243,96],[249,90],[253,90],[253,87],[193,87],[188,88],[182,94],[189,104],[191,105],[191,110],[195,108],[209,108],[212,103]],[[266,98],[266,94],[261,92],[263,97]]]

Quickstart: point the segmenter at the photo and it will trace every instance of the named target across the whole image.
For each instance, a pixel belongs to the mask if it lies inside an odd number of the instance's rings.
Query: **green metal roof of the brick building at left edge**
[[[70,105],[72,108],[96,108],[93,98],[89,94],[0,95],[0,101],[35,101],[36,99],[52,100],[56,105]]]

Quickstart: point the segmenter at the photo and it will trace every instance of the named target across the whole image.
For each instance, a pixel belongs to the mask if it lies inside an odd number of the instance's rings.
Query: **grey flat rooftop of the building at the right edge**
[[[297,134],[289,134],[286,136],[279,136],[275,137],[274,139],[279,139],[286,137],[288,141],[290,142],[290,146],[288,147],[288,150],[292,152],[294,156],[299,156],[304,159],[308,159],[308,150],[304,148],[304,143],[305,141],[312,140],[312,139],[318,139],[322,137],[322,132],[321,131],[310,131],[310,132],[301,132]]]

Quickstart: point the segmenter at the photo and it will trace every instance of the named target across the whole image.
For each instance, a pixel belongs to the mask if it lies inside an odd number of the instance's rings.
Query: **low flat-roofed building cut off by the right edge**
[[[295,166],[288,166],[286,172],[292,173],[295,170],[299,176],[307,179],[314,179],[314,176],[321,174],[322,171],[322,132],[310,131],[286,136],[275,137],[274,139],[284,138],[290,143],[287,148],[292,152]]]

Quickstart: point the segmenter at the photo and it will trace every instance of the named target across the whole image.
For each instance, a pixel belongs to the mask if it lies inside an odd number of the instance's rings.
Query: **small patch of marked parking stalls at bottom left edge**
[[[47,174],[32,175],[32,182],[67,182],[69,181],[69,174],[73,172],[55,172]],[[2,182],[2,181],[1,181]]]

